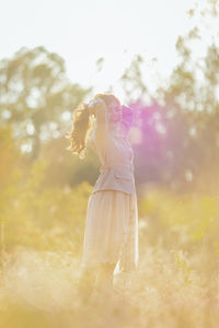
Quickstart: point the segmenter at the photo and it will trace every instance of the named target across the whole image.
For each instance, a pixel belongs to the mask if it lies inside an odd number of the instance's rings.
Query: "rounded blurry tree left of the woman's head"
[[[43,141],[66,132],[72,108],[91,90],[68,80],[59,55],[22,47],[0,61],[0,124],[12,125],[14,138],[34,160]]]

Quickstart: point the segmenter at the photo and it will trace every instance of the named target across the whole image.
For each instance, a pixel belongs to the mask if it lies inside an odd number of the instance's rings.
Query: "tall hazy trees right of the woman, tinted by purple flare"
[[[217,194],[219,33],[210,28],[206,43],[204,31],[209,27],[207,19],[218,20],[219,1],[205,1],[204,8],[197,4],[188,14],[199,15],[199,24],[178,36],[175,46],[180,62],[155,96],[143,85],[142,58],[132,61],[122,77],[122,83],[128,85],[128,103],[136,112],[134,129],[141,134],[139,144],[134,144],[136,177],[139,183],[168,184],[175,191]],[[198,45],[206,48],[201,57],[196,54]]]

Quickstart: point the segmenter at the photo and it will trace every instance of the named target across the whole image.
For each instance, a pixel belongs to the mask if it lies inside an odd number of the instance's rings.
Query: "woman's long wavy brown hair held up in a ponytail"
[[[96,94],[93,99],[102,98],[106,106],[111,104],[112,101],[119,101],[113,94]],[[94,117],[90,114],[88,104],[81,102],[72,114],[72,130],[66,133],[66,138],[70,139],[70,147],[67,148],[72,154],[79,155],[82,160],[85,157],[87,143],[90,138],[90,134],[94,127]]]

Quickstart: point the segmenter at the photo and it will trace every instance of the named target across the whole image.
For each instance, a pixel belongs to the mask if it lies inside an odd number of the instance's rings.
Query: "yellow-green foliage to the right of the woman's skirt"
[[[174,195],[165,189],[154,189],[146,194],[139,202],[140,216],[155,232],[161,232],[165,242],[176,234],[177,247],[201,245],[209,239],[209,247],[218,251],[219,199],[208,195]]]

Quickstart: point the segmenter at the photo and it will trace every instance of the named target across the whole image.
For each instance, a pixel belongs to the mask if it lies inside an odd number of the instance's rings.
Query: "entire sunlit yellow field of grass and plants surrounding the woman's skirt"
[[[47,187],[45,167],[12,166],[0,190],[0,328],[219,327],[218,197],[147,188],[137,272],[115,274],[120,296],[84,303],[77,286],[92,186]]]

